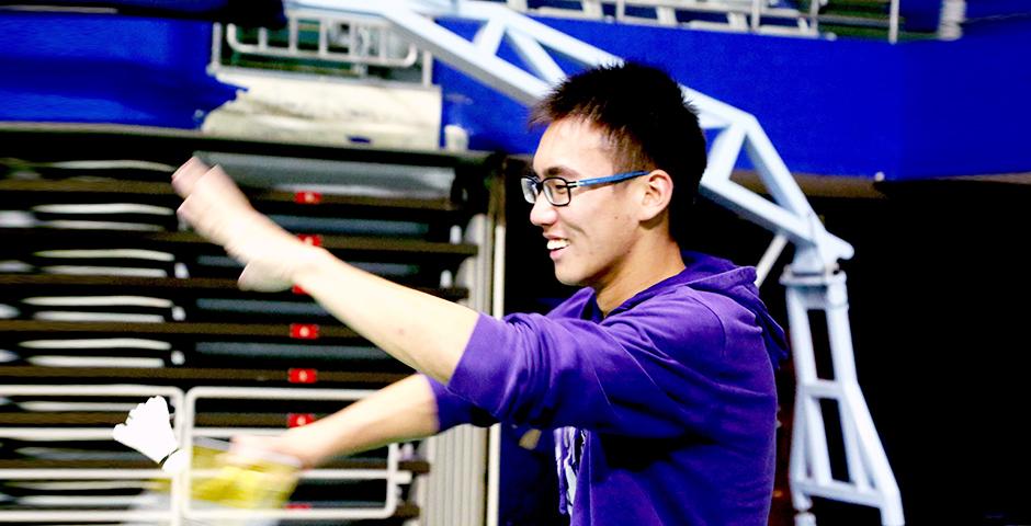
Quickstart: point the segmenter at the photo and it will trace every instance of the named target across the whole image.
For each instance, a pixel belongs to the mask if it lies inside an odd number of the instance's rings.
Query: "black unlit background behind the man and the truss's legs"
[[[827,229],[852,243],[842,262],[860,386],[894,469],[907,524],[1031,524],[1031,448],[1026,426],[1029,400],[1027,243],[1031,185],[985,180],[895,183],[822,178],[803,188]],[[1016,182],[1013,182],[1016,181]],[[506,305],[509,311],[544,311],[573,289],[554,279],[540,229],[525,219],[529,205],[508,182]],[[732,213],[702,202],[695,247],[738,264],[758,262],[771,235]],[[784,288],[778,283],[790,249],[762,286],[774,317],[786,328]],[[828,368],[826,334],[814,325],[817,363]],[[785,490],[794,378],[788,363],[781,384],[782,441],[779,490]],[[832,409],[828,428],[834,427]],[[554,507],[541,482],[551,450],[523,453],[509,433],[502,524],[530,522],[539,495]],[[843,477],[840,436],[829,436],[835,474]],[[512,460],[512,456],[519,458]],[[513,473],[521,471],[522,473]],[[536,476],[525,488],[526,473]],[[516,491],[511,491],[511,490]],[[789,494],[774,498],[771,524],[792,524]],[[825,525],[880,524],[874,508],[817,500]],[[508,514],[508,515],[506,515]],[[505,521],[507,519],[507,522]]]

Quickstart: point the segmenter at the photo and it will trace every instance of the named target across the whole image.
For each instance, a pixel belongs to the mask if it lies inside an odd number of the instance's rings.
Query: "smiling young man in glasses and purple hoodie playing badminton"
[[[180,214],[247,264],[242,287],[299,285],[423,374],[242,442],[313,466],[462,423],[530,424],[555,430],[574,525],[764,525],[783,333],[752,268],[678,243],[696,228],[698,117],[668,76],[625,65],[568,79],[533,119],[547,128],[522,181],[530,220],[556,277],[585,287],[547,316],[496,320],[392,284],[284,232],[218,168],[175,173]]]

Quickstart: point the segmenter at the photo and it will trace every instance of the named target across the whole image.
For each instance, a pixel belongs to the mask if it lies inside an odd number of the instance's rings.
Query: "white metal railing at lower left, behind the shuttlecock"
[[[224,428],[197,427],[196,402],[202,399],[251,399],[251,400],[340,400],[355,401],[372,393],[372,390],[350,389],[276,389],[276,388],[233,388],[195,387],[183,393],[174,387],[157,386],[0,386],[0,396],[4,397],[125,397],[149,398],[166,397],[174,408],[173,430],[180,438],[182,448],[193,451],[194,441],[200,437],[228,438],[236,434],[275,434],[274,428]],[[121,415],[121,413],[120,413]],[[0,438],[20,441],[103,441],[112,438],[112,427],[0,427]],[[183,519],[226,521],[243,518],[291,518],[291,519],[375,519],[387,518],[397,512],[399,487],[411,482],[411,473],[400,471],[400,447],[387,446],[386,467],[384,469],[313,469],[301,474],[302,479],[313,480],[383,480],[385,493],[383,505],[378,507],[336,507],[319,510],[197,510],[190,498],[190,482],[195,478],[211,477],[211,470],[194,470],[191,466],[172,478],[157,469],[0,469],[0,480],[171,480],[170,496],[167,507],[148,504],[147,510],[7,510],[0,511],[2,523],[31,523],[43,521],[64,521],[76,523],[103,523],[122,521],[150,521],[168,523],[172,526]],[[162,505],[166,501],[158,500]]]

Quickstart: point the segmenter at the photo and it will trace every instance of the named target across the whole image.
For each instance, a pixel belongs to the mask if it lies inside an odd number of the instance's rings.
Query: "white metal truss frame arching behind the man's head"
[[[897,7],[897,0],[892,1]],[[551,85],[565,78],[551,53],[590,67],[616,64],[620,58],[533,21],[498,2],[465,0],[288,0],[287,9],[304,9],[326,15],[342,13],[379,16],[394,31],[429,50],[434,58],[523,104],[532,104]],[[441,27],[438,16],[479,22],[473,41]],[[497,53],[507,42],[522,60],[513,65]],[[887,526],[904,524],[902,498],[876,427],[870,416],[856,375],[852,336],[848,318],[848,289],[839,260],[853,255],[852,247],[828,232],[755,116],[682,87],[686,98],[700,111],[703,128],[716,130],[710,163],[701,183],[707,198],[774,233],[760,261],[768,272],[790,241],[794,258],[781,277],[786,287],[792,354],[796,373],[794,433],[790,480],[798,526],[813,525],[813,498],[825,498],[876,507]],[[745,152],[772,202],[730,180],[737,159]],[[826,317],[832,376],[820,377],[809,315]],[[831,473],[830,451],[822,402],[837,405],[843,438],[846,480]],[[491,469],[487,524],[497,522],[497,466],[499,442],[491,434]]]

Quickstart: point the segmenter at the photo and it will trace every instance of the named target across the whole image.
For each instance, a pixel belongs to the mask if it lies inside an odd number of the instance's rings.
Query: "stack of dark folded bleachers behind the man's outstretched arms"
[[[18,396],[0,388],[0,473],[154,470],[152,461],[113,441],[3,435],[13,428],[110,428],[145,399],[90,396],[91,386],[376,389],[411,373],[303,290],[239,290],[239,265],[182,230],[171,211],[178,198],[170,172],[193,155],[222,160],[259,210],[342,259],[449,300],[471,296],[453,276],[480,249],[455,239],[454,231],[485,209],[492,157],[344,150],[163,129],[0,125],[0,385],[86,391]],[[230,165],[256,158],[295,168],[277,181],[243,173],[247,162],[237,168],[240,173]],[[305,186],[313,160],[319,174]],[[333,163],[340,173],[327,176]],[[394,165],[400,167],[397,175],[389,173]],[[348,180],[362,167],[385,171],[383,187],[353,192]],[[420,167],[451,181],[428,191],[412,175]],[[354,178],[362,186],[381,184],[367,174]],[[347,403],[202,399],[192,425],[197,436],[211,430],[283,430]],[[399,462],[410,478],[431,469],[416,450],[408,448]],[[386,466],[381,449],[333,459],[325,468]],[[154,492],[154,484],[146,478],[4,480],[0,522],[5,511],[135,510],[133,498]],[[383,487],[383,480],[306,480],[290,507],[377,507]],[[407,483],[400,492],[393,517],[347,524],[400,524],[418,516]]]

